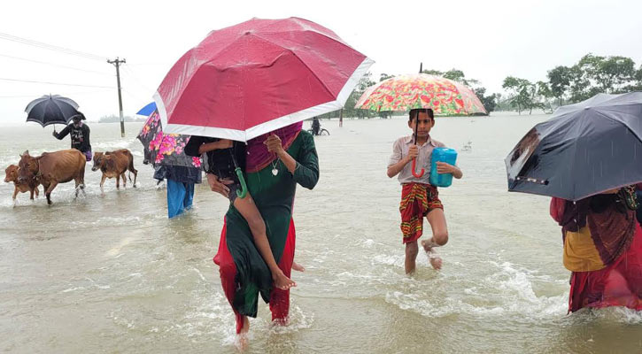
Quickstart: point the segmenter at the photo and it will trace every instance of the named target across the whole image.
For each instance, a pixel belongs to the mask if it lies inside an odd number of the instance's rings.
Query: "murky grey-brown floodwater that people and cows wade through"
[[[441,189],[450,242],[435,272],[420,254],[404,274],[400,186],[385,175],[406,119],[322,121],[321,180],[299,187],[290,326],[251,319],[251,353],[602,353],[642,351],[642,315],[567,315],[569,272],[548,199],[507,192],[503,159],[546,116],[437,118],[433,137],[460,150],[462,180]],[[309,124],[306,123],[306,127]],[[227,199],[200,185],[195,207],[166,219],[166,190],[142,165],[140,124],[91,124],[95,151],[128,148],[138,188],[87,167],[87,196],[58,186],[48,206],[12,204],[0,185],[0,350],[236,352],[234,318],[212,258]],[[60,127],[58,127],[60,128]],[[0,165],[66,149],[51,127],[0,130]],[[469,151],[462,147],[470,142]]]

